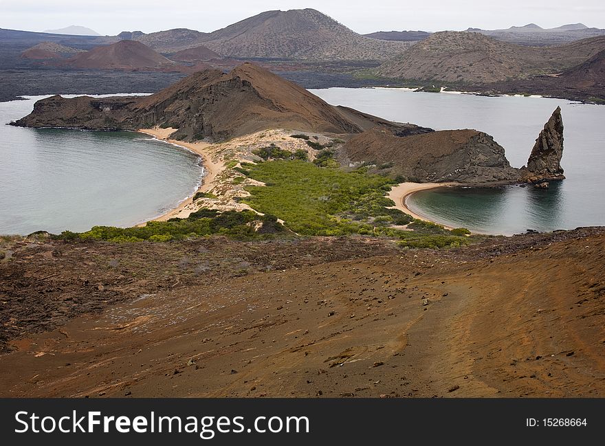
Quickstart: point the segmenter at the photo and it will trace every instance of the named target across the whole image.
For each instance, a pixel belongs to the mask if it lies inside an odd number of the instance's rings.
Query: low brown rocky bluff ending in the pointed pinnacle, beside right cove
[[[487,133],[445,130],[401,133],[375,126],[344,145],[347,161],[383,164],[408,180],[467,184],[544,183],[563,179],[561,109],[553,112],[531,150],[527,167],[511,167],[505,150]],[[543,185],[547,187],[547,185]]]

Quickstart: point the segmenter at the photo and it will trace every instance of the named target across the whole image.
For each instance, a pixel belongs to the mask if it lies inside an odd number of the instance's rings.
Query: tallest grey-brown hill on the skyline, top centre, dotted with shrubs
[[[204,45],[222,56],[307,60],[384,60],[409,43],[357,34],[312,9],[267,11],[214,31]]]

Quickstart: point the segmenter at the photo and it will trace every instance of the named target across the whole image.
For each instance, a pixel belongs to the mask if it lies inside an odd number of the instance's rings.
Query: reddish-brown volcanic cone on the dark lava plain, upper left
[[[174,63],[150,47],[135,41],[119,41],[103,45],[79,54],[66,65],[89,69],[153,69],[168,67]]]

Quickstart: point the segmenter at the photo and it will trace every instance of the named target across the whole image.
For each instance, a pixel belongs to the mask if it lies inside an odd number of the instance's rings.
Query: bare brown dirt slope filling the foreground
[[[181,278],[14,339],[0,394],[604,397],[604,232],[489,243]]]

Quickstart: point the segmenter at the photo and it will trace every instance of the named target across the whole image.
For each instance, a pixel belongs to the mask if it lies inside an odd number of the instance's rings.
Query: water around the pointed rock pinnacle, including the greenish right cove
[[[428,126],[485,131],[506,150],[512,166],[527,163],[540,130],[557,106],[564,125],[561,165],[566,179],[549,190],[521,188],[437,189],[408,197],[428,219],[487,234],[516,234],[605,225],[605,106],[551,98],[414,93],[403,89],[314,90],[334,105]]]

